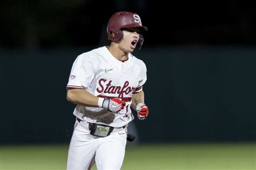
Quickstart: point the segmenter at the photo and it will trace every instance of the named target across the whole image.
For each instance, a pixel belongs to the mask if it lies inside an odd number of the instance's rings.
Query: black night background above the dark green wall
[[[147,45],[255,45],[255,2],[4,1],[0,46],[77,47],[105,44],[116,11],[136,12]]]

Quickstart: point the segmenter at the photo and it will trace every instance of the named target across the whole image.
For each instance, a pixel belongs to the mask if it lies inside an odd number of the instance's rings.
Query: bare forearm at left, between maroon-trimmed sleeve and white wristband
[[[66,95],[68,101],[77,105],[88,107],[99,107],[98,97],[93,96],[91,93],[84,89],[69,89]]]

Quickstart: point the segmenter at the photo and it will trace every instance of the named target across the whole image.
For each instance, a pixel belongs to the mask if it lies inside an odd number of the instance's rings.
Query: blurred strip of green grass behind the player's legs
[[[0,169],[66,169],[68,145],[2,145]],[[122,169],[256,169],[256,143],[126,147]],[[96,165],[93,169],[97,169]]]

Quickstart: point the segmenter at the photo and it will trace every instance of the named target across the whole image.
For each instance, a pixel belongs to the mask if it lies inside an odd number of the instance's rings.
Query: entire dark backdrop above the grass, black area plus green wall
[[[255,2],[5,1],[0,6],[1,143],[69,142],[75,58],[109,45],[117,11],[143,25],[150,116],[140,141],[255,141]],[[136,113],[134,113],[136,117]]]

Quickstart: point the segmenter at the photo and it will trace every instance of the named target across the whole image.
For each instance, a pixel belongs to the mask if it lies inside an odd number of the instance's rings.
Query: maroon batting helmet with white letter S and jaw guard
[[[107,37],[114,43],[119,42],[123,38],[123,28],[138,28],[140,32],[147,31],[145,26],[142,26],[142,21],[137,13],[132,12],[116,12],[109,19],[107,24]],[[114,33],[114,35],[112,35]],[[139,35],[137,46],[141,49],[144,42],[143,36]]]

